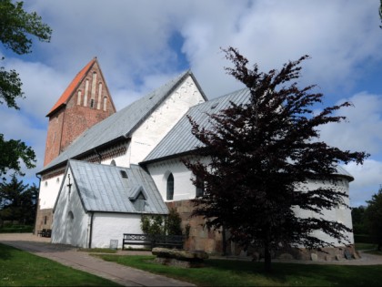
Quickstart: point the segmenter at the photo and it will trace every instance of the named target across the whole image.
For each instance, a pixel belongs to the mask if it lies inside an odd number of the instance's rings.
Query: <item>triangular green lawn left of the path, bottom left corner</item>
[[[0,286],[118,286],[118,284],[0,244]]]

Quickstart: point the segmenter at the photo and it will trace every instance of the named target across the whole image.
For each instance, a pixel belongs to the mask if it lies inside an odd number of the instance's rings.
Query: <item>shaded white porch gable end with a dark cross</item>
[[[66,177],[57,199],[51,241],[85,248],[88,242],[89,216],[83,209],[73,179],[70,194],[68,183]]]

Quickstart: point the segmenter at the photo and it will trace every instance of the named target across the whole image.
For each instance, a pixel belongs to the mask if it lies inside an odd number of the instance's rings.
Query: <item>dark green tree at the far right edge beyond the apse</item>
[[[367,201],[365,219],[372,240],[377,243],[377,250],[382,251],[382,187]]]

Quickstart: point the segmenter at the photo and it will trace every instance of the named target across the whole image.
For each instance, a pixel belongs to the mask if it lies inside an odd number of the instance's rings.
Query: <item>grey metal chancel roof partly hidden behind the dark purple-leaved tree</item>
[[[200,147],[202,143],[191,133],[192,127],[186,116],[193,118],[201,127],[208,128],[210,125],[208,114],[218,113],[220,110],[228,108],[231,102],[236,105],[246,104],[249,102],[249,98],[249,90],[243,88],[189,108],[186,115],[177,122],[176,126],[167,133],[166,137],[148,154],[143,162],[172,157]]]

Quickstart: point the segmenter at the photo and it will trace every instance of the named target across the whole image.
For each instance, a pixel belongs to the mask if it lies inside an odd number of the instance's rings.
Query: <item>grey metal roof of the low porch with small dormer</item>
[[[66,170],[69,169],[86,211],[168,213],[153,179],[137,165],[126,169],[70,159]],[[121,170],[126,172],[127,178],[122,176]],[[139,192],[146,198],[144,211],[136,210],[133,204]]]

